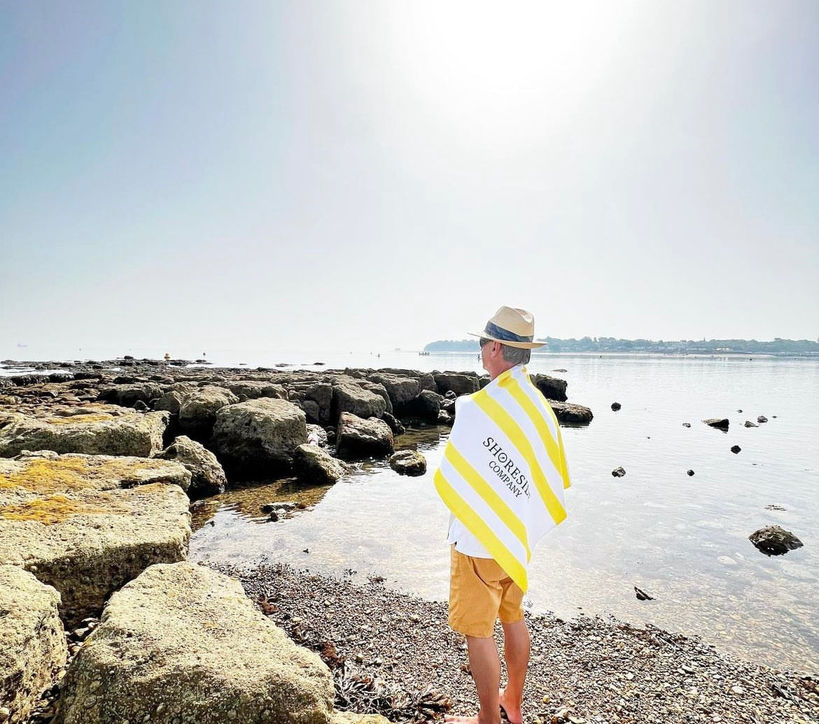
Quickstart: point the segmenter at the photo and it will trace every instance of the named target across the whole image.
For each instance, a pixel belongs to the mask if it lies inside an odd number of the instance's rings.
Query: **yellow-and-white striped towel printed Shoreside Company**
[[[566,518],[571,483],[557,418],[524,366],[456,405],[435,488],[525,592],[532,550]]]

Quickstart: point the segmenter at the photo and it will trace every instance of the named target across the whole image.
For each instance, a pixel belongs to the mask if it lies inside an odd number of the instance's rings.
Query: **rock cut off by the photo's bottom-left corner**
[[[0,564],[0,722],[25,722],[68,658],[60,594],[16,565]]]

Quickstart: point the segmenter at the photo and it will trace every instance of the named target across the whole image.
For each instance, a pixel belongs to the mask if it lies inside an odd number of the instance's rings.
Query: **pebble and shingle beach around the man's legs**
[[[337,672],[337,691],[345,676],[378,681],[387,694],[382,709],[391,700],[409,702],[396,721],[445,700],[450,713],[475,713],[463,637],[446,625],[446,603],[391,591],[379,578],[356,585],[282,564],[221,570],[239,578],[294,641],[322,655]],[[527,620],[532,664],[523,711],[530,724],[819,722],[816,678],[613,618],[527,614]],[[501,641],[500,627],[495,636]],[[367,695],[353,698],[352,706],[378,710]]]

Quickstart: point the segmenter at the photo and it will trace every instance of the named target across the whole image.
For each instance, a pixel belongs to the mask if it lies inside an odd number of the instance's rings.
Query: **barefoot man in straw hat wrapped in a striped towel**
[[[521,724],[529,632],[523,618],[527,564],[536,543],[566,517],[569,477],[560,428],[526,368],[534,317],[501,307],[479,335],[490,383],[456,403],[435,486],[450,509],[450,627],[466,636],[477,717],[450,722]],[[495,618],[509,674],[500,689]]]

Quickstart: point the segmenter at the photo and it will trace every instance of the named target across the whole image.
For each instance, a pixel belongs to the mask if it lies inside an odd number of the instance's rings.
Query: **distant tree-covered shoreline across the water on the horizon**
[[[786,354],[795,356],[819,355],[819,341],[812,340],[618,340],[616,337],[582,337],[561,340],[545,337],[549,344],[541,352],[652,352],[668,354]],[[423,348],[425,352],[477,353],[477,340],[437,340]]]

